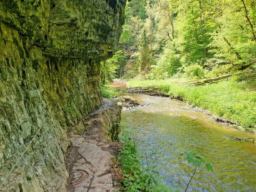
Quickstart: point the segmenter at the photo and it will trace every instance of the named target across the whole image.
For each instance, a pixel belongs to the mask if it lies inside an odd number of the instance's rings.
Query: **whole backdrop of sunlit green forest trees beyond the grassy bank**
[[[256,60],[253,0],[133,0],[126,17],[122,71],[133,76],[215,77]]]

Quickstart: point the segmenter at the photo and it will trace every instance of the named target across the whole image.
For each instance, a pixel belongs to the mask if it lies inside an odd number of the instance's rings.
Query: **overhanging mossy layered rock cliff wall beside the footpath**
[[[102,104],[100,61],[118,46],[125,4],[0,2],[0,191],[66,191],[67,126]]]

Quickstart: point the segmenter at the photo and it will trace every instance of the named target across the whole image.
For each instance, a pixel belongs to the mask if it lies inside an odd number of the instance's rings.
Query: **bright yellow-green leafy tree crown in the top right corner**
[[[255,17],[255,3],[245,0],[248,19]],[[226,5],[228,4],[228,6]],[[256,42],[242,1],[221,4],[225,8],[216,18],[218,28],[211,34],[209,47],[214,57],[223,59],[226,63],[241,64],[255,60]],[[255,27],[255,23],[253,24]]]

